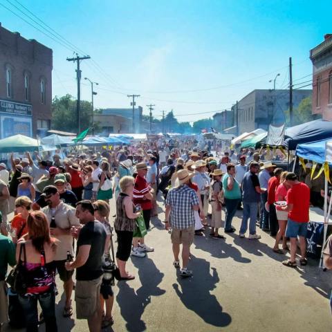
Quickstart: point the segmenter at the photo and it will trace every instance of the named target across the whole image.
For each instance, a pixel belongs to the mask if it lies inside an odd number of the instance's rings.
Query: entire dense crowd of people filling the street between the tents
[[[15,264],[25,281],[17,298],[27,331],[37,331],[42,320],[46,331],[57,331],[55,294],[61,289],[55,284],[56,273],[63,283],[64,317],[73,315],[75,289],[77,319],[86,319],[90,331],[113,324],[113,291],[104,277],[105,266],[116,263],[112,275],[118,280],[135,278],[126,263],[131,255],[145,257],[154,251],[147,244],[148,230],[151,218],[163,213],[157,205],[161,194],[173,265],[182,277],[193,275],[188,265],[194,237],[209,230],[211,239],[225,239],[236,232],[232,219],[237,210],[243,210],[240,238],[249,229],[248,239],[260,239],[257,226],[270,232],[275,237],[271,250],[280,255],[290,251],[290,259],[282,262],[289,267],[297,266],[299,239],[299,264],[307,264],[312,194],[296,174],[261,162],[258,153],[250,152],[248,160],[245,151],[219,151],[217,157],[194,142],[183,143],[182,149],[175,146],[151,142],[64,159],[55,155],[53,160],[27,153],[10,156],[10,172],[0,164],[0,327],[8,322],[6,275],[8,265]],[[116,214],[110,218],[113,197]],[[14,216],[8,220],[10,212]],[[331,268],[331,241],[328,248],[326,267]]]

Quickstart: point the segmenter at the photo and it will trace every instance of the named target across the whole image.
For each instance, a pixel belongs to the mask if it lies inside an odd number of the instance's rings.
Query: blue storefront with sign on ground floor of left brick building
[[[6,138],[20,133],[33,136],[33,107],[31,104],[0,99],[0,137]]]

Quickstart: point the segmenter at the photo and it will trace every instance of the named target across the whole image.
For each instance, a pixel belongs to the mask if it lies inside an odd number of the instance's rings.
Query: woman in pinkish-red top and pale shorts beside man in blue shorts
[[[288,172],[282,172],[282,174],[280,175],[280,184],[278,185],[277,190],[275,190],[275,201],[286,201],[287,192],[288,189],[290,189],[290,187],[287,185],[286,182],[287,174]],[[287,241],[285,237],[287,221],[288,221],[288,212],[282,210],[280,206],[276,206],[275,212],[277,212],[279,230],[275,237],[275,246],[273,247],[273,251],[283,254],[284,252],[279,249],[279,242],[282,239],[282,248],[284,250],[288,250]]]

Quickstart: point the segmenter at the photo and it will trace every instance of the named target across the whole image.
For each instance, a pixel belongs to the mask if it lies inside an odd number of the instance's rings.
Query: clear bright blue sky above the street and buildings
[[[286,87],[290,56],[295,83],[307,81],[310,76],[301,77],[312,72],[309,50],[332,33],[331,1],[0,3],[21,17],[12,5],[24,10],[23,4],[80,48],[80,55],[91,56],[82,62],[82,77],[100,84],[95,107],[129,107],[127,94],[136,93],[143,113],[148,113],[145,105],[156,104],[154,116],[174,109],[181,121],[208,118],[253,89],[270,89],[268,81],[277,73],[277,88]],[[58,44],[3,6],[0,17],[3,27],[53,49],[53,97],[76,95],[75,64],[66,61],[72,47]],[[91,99],[84,80],[82,99]]]

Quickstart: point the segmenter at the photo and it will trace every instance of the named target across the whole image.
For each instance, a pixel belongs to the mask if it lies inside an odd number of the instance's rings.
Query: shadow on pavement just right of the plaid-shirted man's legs
[[[206,231],[205,231],[206,232]],[[231,243],[225,243],[222,239],[212,239],[209,237],[208,230],[205,237],[195,237],[194,245],[196,249],[201,249],[206,252],[210,252],[212,257],[216,258],[228,258],[232,257],[234,261],[239,261],[239,263],[250,263],[250,259],[242,257],[239,249],[232,246]]]

